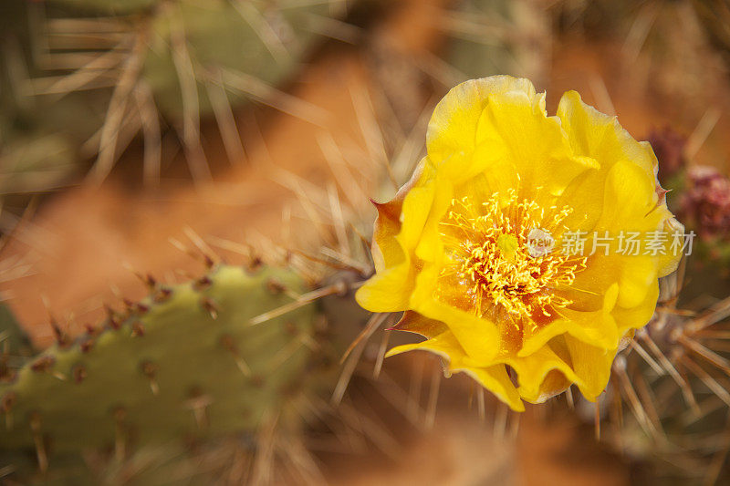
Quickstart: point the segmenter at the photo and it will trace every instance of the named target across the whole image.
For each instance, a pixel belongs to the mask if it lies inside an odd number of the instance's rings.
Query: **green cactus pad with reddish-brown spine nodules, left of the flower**
[[[272,419],[296,433],[297,403],[331,392],[337,376],[304,290],[291,270],[221,266],[189,284],[154,284],[75,342],[57,332],[55,346],[5,370],[0,457],[35,449],[46,470],[83,450],[160,452],[254,434]]]

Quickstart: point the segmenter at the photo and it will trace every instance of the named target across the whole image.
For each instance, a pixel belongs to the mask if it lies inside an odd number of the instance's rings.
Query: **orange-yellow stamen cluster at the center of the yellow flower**
[[[516,191],[495,193],[478,205],[469,197],[454,199],[441,223],[449,263],[439,287],[460,286],[476,315],[494,318],[504,311],[516,321],[551,317],[572,304],[556,290],[572,284],[586,263],[553,248],[568,230],[562,222],[570,212],[567,206],[519,201]]]

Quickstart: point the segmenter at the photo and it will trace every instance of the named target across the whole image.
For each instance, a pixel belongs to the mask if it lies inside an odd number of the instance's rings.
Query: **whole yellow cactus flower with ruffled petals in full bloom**
[[[575,91],[548,117],[530,81],[496,76],[442,99],[427,150],[376,203],[357,294],[427,338],[389,356],[431,351],[515,410],[571,384],[595,400],[684,251],[651,146]]]

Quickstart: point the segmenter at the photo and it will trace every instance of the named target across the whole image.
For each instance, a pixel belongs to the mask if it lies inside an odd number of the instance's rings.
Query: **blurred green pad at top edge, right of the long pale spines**
[[[193,62],[201,113],[212,108],[203,86],[203,71],[243,73],[260,86],[286,82],[320,36],[309,29],[312,18],[327,17],[327,3],[276,7],[261,3],[223,0],[184,0],[176,9],[166,9],[151,20],[150,50],[143,78],[150,84],[155,103],[167,119],[183,117],[180,74],[173,61],[172,26],[184,31],[185,47]],[[263,28],[262,26],[266,26]],[[263,32],[262,32],[263,30]],[[266,33],[269,33],[268,38]],[[248,97],[236,88],[226,89],[232,105]]]

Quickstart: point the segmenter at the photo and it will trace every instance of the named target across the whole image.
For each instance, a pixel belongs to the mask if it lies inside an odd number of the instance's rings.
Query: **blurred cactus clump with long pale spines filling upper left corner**
[[[91,177],[102,181],[138,135],[145,181],[154,182],[168,130],[181,141],[193,178],[206,179],[200,119],[214,115],[229,158],[242,160],[232,108],[251,100],[317,119],[317,109],[276,86],[292,78],[344,5],[9,0],[0,21],[7,146],[0,196],[67,183],[87,159],[96,159]],[[45,145],[13,150],[19,143]]]

